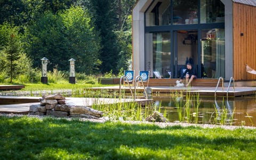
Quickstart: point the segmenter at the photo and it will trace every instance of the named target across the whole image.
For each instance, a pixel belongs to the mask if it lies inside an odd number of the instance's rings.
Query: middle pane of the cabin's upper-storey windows
[[[197,0],[173,0],[173,25],[197,24]]]

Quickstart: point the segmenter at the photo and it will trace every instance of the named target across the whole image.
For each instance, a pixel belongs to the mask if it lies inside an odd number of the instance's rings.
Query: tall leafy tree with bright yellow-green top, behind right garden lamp
[[[82,7],[71,7],[61,13],[67,38],[70,43],[70,58],[76,59],[76,70],[86,74],[98,71],[100,38],[94,29],[88,11]]]

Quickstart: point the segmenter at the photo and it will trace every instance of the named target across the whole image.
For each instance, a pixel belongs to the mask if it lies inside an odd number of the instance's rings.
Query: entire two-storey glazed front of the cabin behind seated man
[[[151,76],[159,71],[167,78],[171,70],[177,78],[189,61],[198,77],[225,78],[225,5],[221,0],[154,0],[145,21],[145,69]]]

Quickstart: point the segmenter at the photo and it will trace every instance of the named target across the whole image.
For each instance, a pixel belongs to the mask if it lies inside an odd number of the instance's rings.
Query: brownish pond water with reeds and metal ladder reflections
[[[195,99],[190,101],[190,110],[184,107],[188,101],[186,97],[154,97],[153,99],[154,105],[161,108],[161,113],[166,113],[166,118],[170,122],[180,121],[182,118],[184,122],[196,123],[197,121],[198,124],[256,126],[255,97],[235,97],[228,100],[200,97],[198,111],[195,111],[198,102]],[[177,104],[181,104],[180,110]]]

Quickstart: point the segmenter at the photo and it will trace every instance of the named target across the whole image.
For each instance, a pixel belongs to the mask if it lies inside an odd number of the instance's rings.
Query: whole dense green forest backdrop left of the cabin
[[[135,0],[0,0],[0,83],[38,81],[50,71],[98,75],[127,69],[132,59]],[[6,80],[7,79],[7,80]]]

